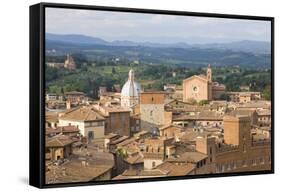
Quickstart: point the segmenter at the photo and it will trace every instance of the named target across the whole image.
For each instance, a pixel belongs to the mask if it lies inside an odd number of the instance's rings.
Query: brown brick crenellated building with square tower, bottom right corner
[[[225,116],[224,138],[199,137],[196,150],[208,155],[204,173],[271,169],[271,140],[256,140],[249,116]]]

